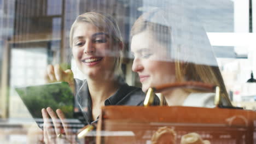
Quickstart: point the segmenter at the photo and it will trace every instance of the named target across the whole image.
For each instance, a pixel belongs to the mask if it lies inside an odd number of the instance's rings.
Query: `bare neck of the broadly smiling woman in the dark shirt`
[[[92,104],[101,104],[113,95],[119,88],[119,83],[115,79],[92,80],[88,79],[88,88],[92,99]]]

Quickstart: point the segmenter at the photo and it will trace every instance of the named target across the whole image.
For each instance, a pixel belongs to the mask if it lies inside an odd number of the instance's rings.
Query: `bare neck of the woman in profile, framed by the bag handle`
[[[185,99],[187,99],[189,92],[184,91],[184,89],[178,88],[171,91],[166,91],[162,93],[165,96],[168,106],[173,105],[183,105]]]

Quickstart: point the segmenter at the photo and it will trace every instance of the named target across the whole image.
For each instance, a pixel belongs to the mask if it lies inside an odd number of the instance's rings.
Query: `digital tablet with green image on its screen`
[[[62,110],[72,128],[83,127],[74,117],[74,96],[67,82],[17,87],[15,90],[41,129],[43,129],[42,109],[47,107],[51,107],[54,111]]]

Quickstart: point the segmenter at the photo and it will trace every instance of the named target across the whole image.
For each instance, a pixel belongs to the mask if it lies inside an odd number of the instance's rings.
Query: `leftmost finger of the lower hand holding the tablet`
[[[54,129],[51,126],[51,121],[48,116],[48,112],[45,109],[42,109],[42,115],[44,119],[44,139],[46,139],[49,142],[55,138],[56,134],[54,133]]]

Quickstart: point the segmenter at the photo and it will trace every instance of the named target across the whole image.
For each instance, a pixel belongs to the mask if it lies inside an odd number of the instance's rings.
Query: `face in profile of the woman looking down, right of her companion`
[[[175,81],[174,62],[168,58],[166,47],[155,40],[150,31],[132,37],[131,52],[135,56],[132,70],[138,73],[144,92]]]

